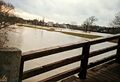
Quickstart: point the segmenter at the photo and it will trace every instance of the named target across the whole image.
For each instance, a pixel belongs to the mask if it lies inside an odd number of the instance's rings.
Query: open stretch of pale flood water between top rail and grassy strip
[[[23,52],[83,41],[80,37],[27,27],[18,27],[14,31],[9,31],[7,38],[5,46],[17,47]]]

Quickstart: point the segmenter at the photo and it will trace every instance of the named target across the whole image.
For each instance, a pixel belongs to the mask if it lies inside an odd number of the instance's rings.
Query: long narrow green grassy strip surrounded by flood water
[[[90,35],[90,34],[82,34],[82,33],[75,33],[75,32],[66,32],[66,31],[56,31],[55,28],[53,27],[42,27],[42,26],[35,26],[35,25],[27,25],[27,24],[19,24],[18,26],[26,26],[30,28],[37,28],[37,29],[42,29],[42,30],[47,30],[47,31],[54,31],[54,32],[60,32],[68,35],[73,35],[73,36],[78,36],[78,37],[83,37],[83,38],[89,38],[89,39],[95,39],[99,38],[101,36],[98,35]]]

